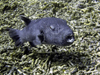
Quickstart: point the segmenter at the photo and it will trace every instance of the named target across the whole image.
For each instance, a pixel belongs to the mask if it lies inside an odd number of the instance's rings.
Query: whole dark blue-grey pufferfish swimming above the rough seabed
[[[20,16],[26,24],[22,30],[8,28],[15,46],[29,42],[32,47],[41,44],[68,46],[74,42],[74,33],[67,22],[60,18],[47,17],[31,20]]]

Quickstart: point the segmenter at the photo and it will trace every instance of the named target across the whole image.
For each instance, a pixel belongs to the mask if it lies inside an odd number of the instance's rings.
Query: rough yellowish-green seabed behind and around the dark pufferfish
[[[75,41],[15,47],[6,28],[23,29],[20,15],[65,19]],[[100,0],[0,0],[0,75],[100,75]]]

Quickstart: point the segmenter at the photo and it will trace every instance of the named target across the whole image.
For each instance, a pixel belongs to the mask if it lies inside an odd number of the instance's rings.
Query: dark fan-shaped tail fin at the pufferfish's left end
[[[20,37],[20,32],[21,32],[20,30],[12,29],[12,28],[7,28],[7,30],[9,31],[10,37],[15,42],[15,46],[20,46],[23,44],[21,37]]]

